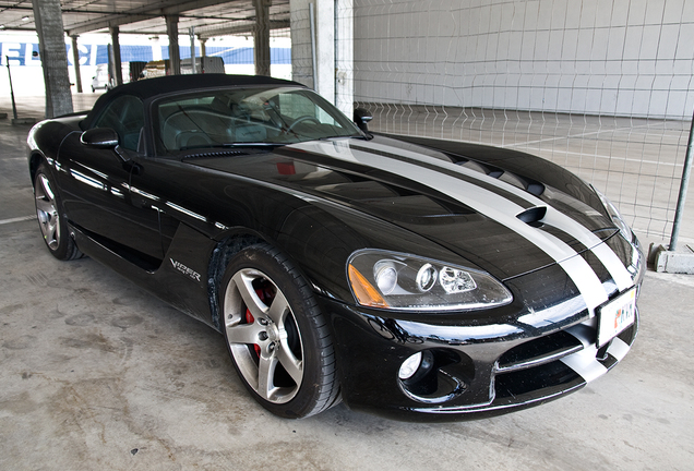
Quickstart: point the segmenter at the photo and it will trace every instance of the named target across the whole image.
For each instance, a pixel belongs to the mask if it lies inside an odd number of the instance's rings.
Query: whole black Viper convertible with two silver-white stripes
[[[644,257],[590,185],[527,154],[371,134],[300,84],[141,81],[29,133],[38,221],[224,334],[273,413],[460,420],[624,358]]]

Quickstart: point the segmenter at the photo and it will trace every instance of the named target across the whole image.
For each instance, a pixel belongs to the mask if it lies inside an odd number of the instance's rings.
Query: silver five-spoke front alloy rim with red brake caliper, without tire
[[[303,379],[303,341],[277,285],[254,268],[237,271],[226,290],[224,321],[229,350],[251,388],[268,402],[294,399]]]

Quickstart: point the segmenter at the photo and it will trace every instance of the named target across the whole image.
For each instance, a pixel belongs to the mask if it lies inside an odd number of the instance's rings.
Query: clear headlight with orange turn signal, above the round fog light
[[[477,310],[513,299],[487,273],[396,252],[357,251],[347,262],[347,276],[357,302],[369,307]]]

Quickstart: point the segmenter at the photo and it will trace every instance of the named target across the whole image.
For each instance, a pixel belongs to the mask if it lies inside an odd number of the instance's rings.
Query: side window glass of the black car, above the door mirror
[[[136,150],[140,131],[144,126],[142,101],[131,95],[116,98],[96,120],[94,126],[112,129],[118,133],[122,147]]]

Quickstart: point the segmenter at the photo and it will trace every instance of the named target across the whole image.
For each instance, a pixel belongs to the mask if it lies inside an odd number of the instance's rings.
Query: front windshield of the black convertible
[[[363,136],[339,110],[306,88],[235,87],[178,96],[155,105],[154,117],[160,154]]]

